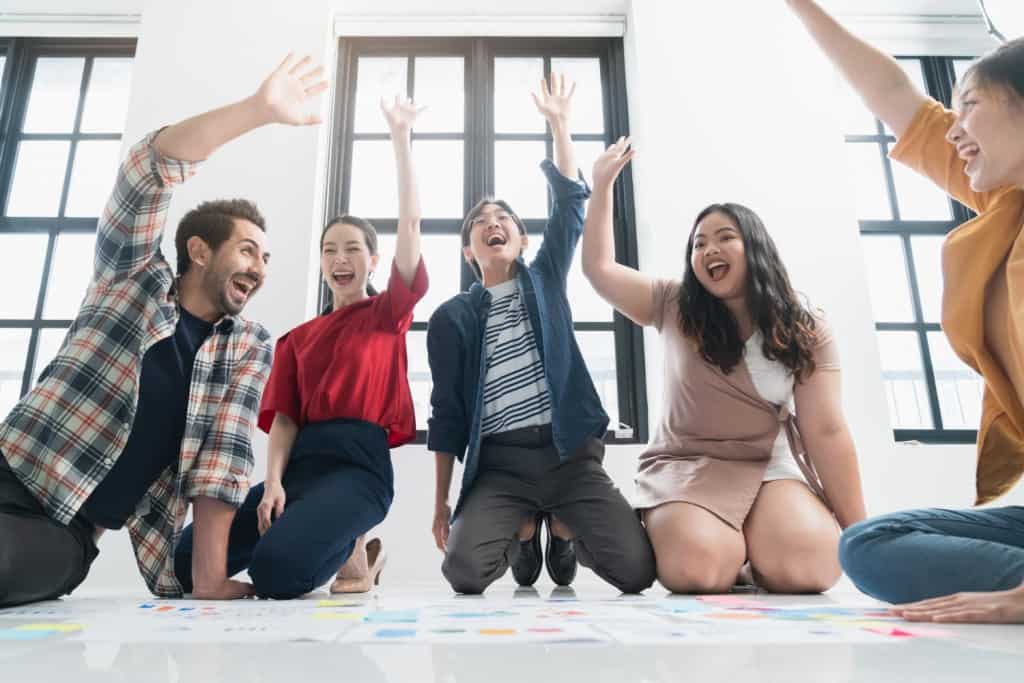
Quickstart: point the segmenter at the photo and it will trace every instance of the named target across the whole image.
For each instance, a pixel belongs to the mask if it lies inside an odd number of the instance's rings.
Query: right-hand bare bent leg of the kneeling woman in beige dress
[[[767,481],[743,523],[757,583],[773,593],[822,593],[842,574],[839,524],[802,481]]]

